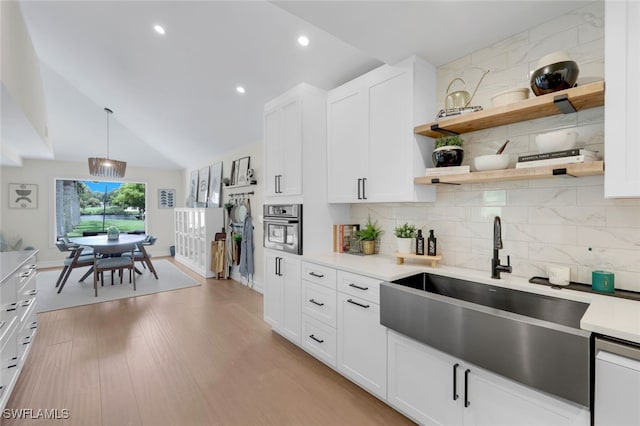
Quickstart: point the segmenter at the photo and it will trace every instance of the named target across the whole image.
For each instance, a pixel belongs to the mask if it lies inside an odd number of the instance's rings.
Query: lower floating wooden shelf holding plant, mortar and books
[[[528,167],[524,169],[490,170],[452,175],[418,176],[414,183],[418,185],[503,182],[523,179],[547,179],[554,176],[599,176],[604,174],[603,161],[587,163],[556,164],[553,166]]]

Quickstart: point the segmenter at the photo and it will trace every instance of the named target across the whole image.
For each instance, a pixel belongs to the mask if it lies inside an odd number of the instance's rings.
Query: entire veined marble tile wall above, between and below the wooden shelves
[[[516,34],[438,69],[437,99],[455,76],[468,87],[489,68],[474,105],[490,107],[493,94],[505,88],[528,87],[529,71],[538,59],[567,50],[580,67],[580,81],[604,78],[604,6],[596,2],[538,27]],[[463,73],[462,71],[465,70]],[[476,76],[476,77],[474,77]],[[532,95],[533,96],[533,95]],[[506,140],[512,163],[518,155],[535,152],[535,136],[557,128],[577,127],[578,145],[603,151],[604,109],[525,121],[464,134],[465,161],[495,153]],[[604,178],[557,177],[495,184],[440,185],[434,203],[352,205],[356,223],[370,214],[386,233],[381,252],[395,251],[393,228],[405,221],[428,234],[435,230],[443,263],[490,273],[493,218],[502,218],[504,250],[513,274],[546,276],[546,266],[571,267],[571,279],[590,283],[594,268],[616,274],[616,288],[640,291],[640,199],[604,198]],[[591,250],[589,248],[591,247]]]

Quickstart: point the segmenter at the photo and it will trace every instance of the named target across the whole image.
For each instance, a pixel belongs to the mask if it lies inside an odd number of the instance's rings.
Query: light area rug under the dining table
[[[87,272],[86,267],[74,269],[71,272],[60,294],[58,294],[55,285],[61,269],[39,272],[37,276],[37,311],[54,311],[200,285],[166,260],[154,260],[153,266],[158,272],[157,280],[148,269],[144,269],[139,262],[136,262],[136,267],[142,272],[142,275],[136,275],[136,291],[133,291],[133,284],[129,283],[128,273],[125,273],[122,285],[120,285],[117,274],[114,277],[114,285],[111,285],[110,274],[105,274],[104,287],[98,283],[98,297],[94,296],[93,275],[87,277],[84,282],[78,282]]]

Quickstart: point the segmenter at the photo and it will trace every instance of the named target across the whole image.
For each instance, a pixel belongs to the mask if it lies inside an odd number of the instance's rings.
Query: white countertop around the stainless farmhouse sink
[[[394,257],[384,255],[357,256],[322,253],[304,255],[302,260],[378,278],[382,281],[393,281],[420,272],[429,272],[497,287],[513,288],[589,303],[589,307],[580,321],[580,327],[583,330],[640,344],[640,302],[638,301],[531,284],[526,278],[510,274],[502,274],[502,279],[495,280],[490,277],[489,268],[486,273],[483,273],[482,271],[447,265],[431,268],[418,262],[397,265]]]

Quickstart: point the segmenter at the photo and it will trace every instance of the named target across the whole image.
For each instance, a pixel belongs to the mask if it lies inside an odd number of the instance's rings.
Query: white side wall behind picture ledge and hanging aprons
[[[182,187],[182,192],[185,194],[185,197],[179,198],[179,202],[182,206],[184,206],[184,202],[186,200],[186,196],[189,192],[189,181],[191,177],[191,172],[193,170],[198,170],[201,167],[210,166],[219,161],[222,161],[222,176],[229,177],[231,173],[231,165],[234,160],[237,160],[242,157],[249,156],[250,158],[250,167],[254,169],[255,176],[258,181],[257,185],[238,187],[238,188],[225,188],[223,186],[222,189],[222,204],[224,204],[227,200],[229,200],[229,194],[239,193],[239,192],[249,192],[253,191],[254,194],[248,197],[249,203],[251,205],[251,217],[253,218],[253,242],[254,242],[254,277],[253,280],[249,281],[246,278],[240,277],[240,273],[238,271],[238,267],[234,267],[232,270],[231,277],[237,281],[242,282],[245,285],[252,286],[256,291],[262,293],[262,283],[263,281],[263,265],[262,265],[262,204],[263,204],[263,179],[264,179],[264,168],[263,168],[263,147],[262,141],[258,141],[252,144],[247,144],[239,147],[233,151],[229,151],[224,155],[218,157],[211,157],[208,159],[203,159],[202,163],[194,164],[189,170],[184,171],[183,181],[184,185]],[[225,217],[226,213],[225,213]],[[228,223],[228,219],[225,223]]]

